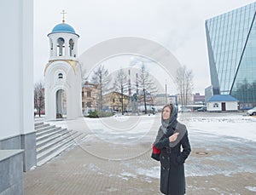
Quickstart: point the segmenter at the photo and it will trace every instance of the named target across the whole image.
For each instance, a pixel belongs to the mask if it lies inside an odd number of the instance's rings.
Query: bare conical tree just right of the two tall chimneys
[[[150,77],[148,70],[144,66],[141,67],[139,77],[138,77],[138,89],[143,95],[143,104],[145,109],[145,114],[147,114],[147,103],[151,101],[153,103],[152,94],[157,92],[157,86],[154,83],[152,77]]]

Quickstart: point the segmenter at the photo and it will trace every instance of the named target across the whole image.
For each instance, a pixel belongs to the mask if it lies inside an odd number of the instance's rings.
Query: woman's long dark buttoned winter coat
[[[168,135],[163,135],[155,147],[160,150],[160,191],[168,195],[182,195],[185,193],[184,165],[191,152],[186,126],[177,123],[176,129],[186,130],[185,135],[176,146],[170,147],[169,136],[174,129],[168,128]],[[181,152],[181,146],[183,151]]]

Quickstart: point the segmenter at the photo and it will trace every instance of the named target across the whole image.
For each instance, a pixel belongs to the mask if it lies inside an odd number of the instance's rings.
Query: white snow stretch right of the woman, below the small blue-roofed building
[[[256,141],[256,118],[242,113],[194,113],[179,119],[194,133],[204,132]]]

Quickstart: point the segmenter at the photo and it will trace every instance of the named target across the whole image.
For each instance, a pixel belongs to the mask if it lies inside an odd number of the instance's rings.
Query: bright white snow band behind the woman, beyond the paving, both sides
[[[256,118],[242,113],[179,113],[178,121],[187,126],[189,133],[224,135],[256,141]],[[79,130],[113,143],[154,140],[160,126],[160,114],[151,116],[114,116],[112,118],[79,118],[50,121],[68,129]],[[150,133],[151,132],[151,133]],[[151,137],[150,137],[151,136]]]

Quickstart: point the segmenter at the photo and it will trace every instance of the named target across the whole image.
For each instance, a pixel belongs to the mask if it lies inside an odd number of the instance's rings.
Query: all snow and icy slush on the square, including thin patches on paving
[[[223,175],[231,178],[234,175],[250,176],[256,173],[256,118],[244,116],[240,112],[194,112],[179,113],[178,121],[186,124],[192,147],[192,152],[185,163],[187,177],[198,179]],[[100,159],[89,163],[89,171],[125,182],[159,181],[160,163],[150,159],[150,152],[160,127],[160,114],[78,118],[46,123],[54,123],[84,133],[84,142],[80,147],[87,154]],[[200,152],[207,154],[201,155]],[[112,170],[108,170],[108,165],[101,166],[102,159],[107,159],[104,162],[109,164],[119,162],[116,165],[119,171],[113,173]],[[188,187],[192,191],[196,190],[198,185],[192,185],[191,182]],[[224,185],[222,187],[225,188]],[[242,187],[247,192],[256,192],[256,186],[248,181],[245,181]],[[200,189],[197,192],[199,191]],[[220,191],[218,187],[215,191],[223,194],[226,192]]]

